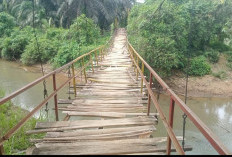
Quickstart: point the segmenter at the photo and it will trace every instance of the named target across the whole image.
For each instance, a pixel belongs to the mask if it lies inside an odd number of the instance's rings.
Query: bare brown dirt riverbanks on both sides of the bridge
[[[10,62],[12,65],[25,72],[41,73],[41,65],[24,66],[19,62]],[[225,56],[221,56],[217,64],[212,64],[212,74],[203,77],[189,77],[188,97],[218,97],[228,98],[232,96],[232,72],[226,65]],[[16,65],[17,64],[17,65]],[[54,69],[51,64],[43,65],[44,72],[50,73]],[[214,76],[213,76],[214,74]],[[220,74],[220,75],[217,75]],[[41,73],[42,76],[42,73]],[[65,76],[65,73],[64,73]],[[185,95],[186,76],[183,73],[175,72],[175,75],[165,82],[178,95]]]

